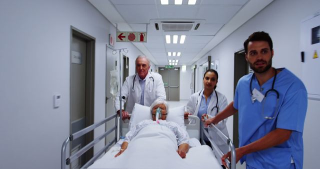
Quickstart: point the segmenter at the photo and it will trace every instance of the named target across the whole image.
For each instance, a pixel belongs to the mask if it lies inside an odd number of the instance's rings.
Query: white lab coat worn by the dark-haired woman
[[[211,112],[212,107],[214,107],[216,105],[216,95],[215,95],[214,91],[212,91],[212,92],[213,92],[213,94],[212,94],[212,97],[210,99],[208,109],[207,109],[207,112],[208,112],[207,114],[208,114],[209,118],[216,115],[216,108],[214,108],[213,111]],[[220,92],[216,91],[216,93],[218,95],[217,106],[219,107],[219,112],[220,112],[227,106],[227,100],[226,100],[226,97],[223,94],[221,94]],[[190,96],[190,98],[185,106],[186,112],[192,113],[192,115],[197,115],[197,113],[199,111],[200,103],[201,103],[202,94],[203,94],[203,90],[195,92]],[[225,125],[226,120],[227,120],[227,118],[221,120],[215,126],[228,137],[229,134],[228,134],[228,131],[227,131],[227,128]],[[216,145],[222,150],[222,152],[226,153],[229,151],[228,145],[226,145],[226,143],[221,140],[221,138],[218,136],[218,134],[216,132],[214,132],[212,129],[208,128],[208,133],[211,136],[212,141],[214,141],[216,143]]]

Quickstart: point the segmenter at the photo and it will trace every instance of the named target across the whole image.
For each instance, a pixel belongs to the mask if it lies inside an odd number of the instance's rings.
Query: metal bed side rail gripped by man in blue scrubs
[[[200,123],[201,125],[201,138],[202,138],[202,141],[203,141],[203,134],[209,139],[211,145],[213,146],[214,150],[217,152],[219,158],[221,158],[224,154],[223,152],[220,150],[220,148],[215,144],[215,142],[212,141],[212,138],[210,137],[209,133],[205,130],[204,126],[203,126],[203,122],[201,121]],[[214,130],[214,132],[216,132],[219,137],[226,143],[229,145],[229,149],[231,151],[231,162],[227,159],[224,159],[224,162],[228,165],[228,168],[231,168],[231,169],[235,169],[235,147],[231,141],[230,138],[228,138],[226,135],[223,134],[222,131],[220,131],[215,125],[213,124],[210,124],[208,128],[211,128]]]

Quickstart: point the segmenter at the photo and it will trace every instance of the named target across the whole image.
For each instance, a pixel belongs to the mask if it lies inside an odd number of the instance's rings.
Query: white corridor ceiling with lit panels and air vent
[[[146,31],[147,42],[133,42],[156,65],[168,64],[168,59],[179,59],[178,65],[190,65],[202,57],[236,28],[263,9],[272,0],[197,0],[188,5],[161,5],[160,0],[88,0],[119,31]],[[174,21],[196,20],[197,30],[162,31],[154,23],[161,19]],[[165,34],[185,34],[184,44],[165,43]],[[172,36],[171,36],[172,40]],[[167,52],[180,51],[181,56]]]

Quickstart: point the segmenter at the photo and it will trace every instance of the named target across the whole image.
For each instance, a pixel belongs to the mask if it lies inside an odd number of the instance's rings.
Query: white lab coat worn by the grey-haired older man
[[[134,78],[134,75],[135,78]],[[152,80],[152,77],[154,79],[154,83]],[[134,78],[134,90],[132,90],[133,85],[133,78]],[[154,85],[152,85],[152,83]],[[150,86],[149,86],[150,85]],[[152,89],[153,86],[153,89]],[[119,110],[120,108],[120,102],[119,102],[119,94],[118,91],[115,97],[115,109]],[[130,76],[127,76],[125,78],[125,81],[123,82],[122,88],[121,88],[121,95],[124,96],[124,99],[122,100],[122,109],[124,109],[124,103],[126,102],[125,110],[128,113],[132,112],[134,103],[139,103],[141,98],[141,87],[139,83],[138,74],[133,74]],[[162,81],[162,76],[156,72],[148,72],[148,74],[145,76],[145,86],[144,86],[144,105],[150,106],[151,103],[156,98],[162,98],[166,99],[164,85]]]

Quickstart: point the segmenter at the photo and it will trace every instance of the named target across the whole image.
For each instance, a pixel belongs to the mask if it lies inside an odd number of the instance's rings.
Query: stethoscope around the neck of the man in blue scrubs
[[[271,86],[271,88],[270,89],[268,89],[266,92],[265,92],[265,94],[264,94],[264,97],[263,97],[263,100],[262,100],[262,111],[261,111],[261,115],[264,117],[264,118],[266,118],[266,119],[273,119],[275,116],[275,111],[277,110],[277,108],[278,108],[278,102],[279,102],[279,92],[276,90],[276,89],[274,89],[274,82],[275,82],[275,78],[276,78],[276,69],[275,68],[273,68],[274,69],[274,78],[273,78],[273,81],[272,81],[272,86]],[[253,94],[252,94],[252,79],[253,79],[253,76],[254,76],[254,73],[252,73],[252,76],[251,76],[251,79],[250,79],[250,94],[251,94],[251,101],[252,101],[252,103],[254,103],[255,102],[255,100],[256,100],[256,98],[253,96]],[[265,104],[265,100],[266,100],[266,96],[267,96],[267,94],[268,93],[271,93],[271,92],[275,92],[275,94],[276,94],[276,103],[275,103],[275,109],[274,109],[274,111],[273,111],[273,116],[264,116],[264,104]]]

